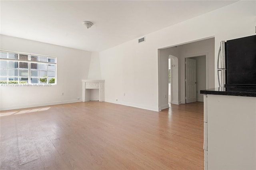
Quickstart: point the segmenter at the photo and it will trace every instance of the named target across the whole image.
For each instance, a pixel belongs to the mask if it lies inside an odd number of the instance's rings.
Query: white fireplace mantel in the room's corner
[[[99,101],[105,100],[105,80],[82,80],[82,101],[90,101],[90,89],[99,89]]]

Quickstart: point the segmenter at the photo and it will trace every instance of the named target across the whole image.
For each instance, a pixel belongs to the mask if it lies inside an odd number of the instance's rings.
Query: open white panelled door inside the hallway
[[[196,102],[196,60],[186,58],[186,103]]]

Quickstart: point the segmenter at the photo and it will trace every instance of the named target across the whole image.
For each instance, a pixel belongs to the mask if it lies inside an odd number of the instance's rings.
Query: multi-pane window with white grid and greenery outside
[[[57,58],[0,51],[0,83],[56,84]]]

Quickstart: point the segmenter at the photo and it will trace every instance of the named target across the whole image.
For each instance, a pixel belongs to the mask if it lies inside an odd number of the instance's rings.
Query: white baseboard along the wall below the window
[[[30,107],[41,107],[41,106],[49,106],[49,105],[59,105],[59,104],[65,104],[65,103],[76,103],[81,102],[82,99],[74,99],[74,100],[67,100],[67,101],[55,101],[55,102],[46,102],[46,103],[34,103],[29,105],[16,105],[16,106],[1,106],[1,111],[6,110],[12,110],[12,109],[24,109],[24,108],[30,108]]]

